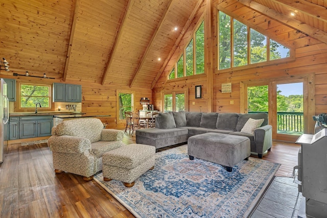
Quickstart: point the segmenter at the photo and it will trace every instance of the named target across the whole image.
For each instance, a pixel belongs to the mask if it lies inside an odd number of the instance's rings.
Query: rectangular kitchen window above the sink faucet
[[[20,110],[35,111],[36,104],[40,103],[40,110],[51,109],[51,85],[19,83]]]

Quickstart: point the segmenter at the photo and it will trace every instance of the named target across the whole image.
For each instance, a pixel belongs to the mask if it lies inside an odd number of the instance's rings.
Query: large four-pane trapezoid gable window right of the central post
[[[218,11],[220,70],[291,57],[291,49]]]

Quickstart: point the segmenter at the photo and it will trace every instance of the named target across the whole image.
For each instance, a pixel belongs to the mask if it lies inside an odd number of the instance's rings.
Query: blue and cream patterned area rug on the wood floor
[[[156,153],[155,168],[131,188],[102,173],[95,180],[136,217],[245,217],[280,165],[249,158],[228,173],[187,153],[187,145]]]

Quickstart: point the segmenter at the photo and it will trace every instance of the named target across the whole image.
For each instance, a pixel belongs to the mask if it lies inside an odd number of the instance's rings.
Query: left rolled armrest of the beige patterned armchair
[[[53,135],[48,139],[48,146],[53,152],[80,154],[91,149],[91,142],[77,136]]]

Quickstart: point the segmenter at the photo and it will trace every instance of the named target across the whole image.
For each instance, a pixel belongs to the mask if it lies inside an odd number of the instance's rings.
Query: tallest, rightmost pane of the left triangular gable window
[[[195,34],[195,52],[196,52],[196,74],[204,73],[204,21]]]

